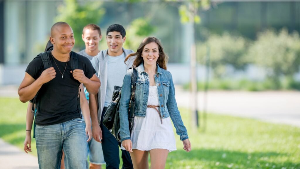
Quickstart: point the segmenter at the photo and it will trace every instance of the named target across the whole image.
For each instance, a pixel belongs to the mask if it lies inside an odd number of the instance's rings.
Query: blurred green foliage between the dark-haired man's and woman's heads
[[[143,39],[153,32],[155,27],[152,26],[150,19],[140,17],[133,20],[126,29],[126,36],[130,38],[126,39],[124,48],[136,51]]]

